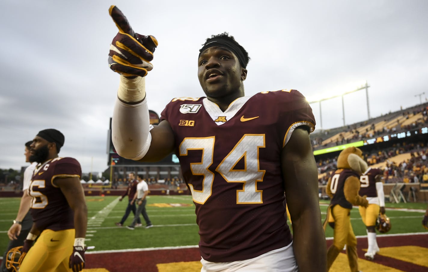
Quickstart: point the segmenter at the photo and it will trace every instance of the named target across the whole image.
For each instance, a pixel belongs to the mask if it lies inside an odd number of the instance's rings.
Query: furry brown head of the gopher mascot
[[[363,159],[363,151],[360,148],[345,148],[337,158],[338,169],[351,169],[358,174],[363,174],[367,167],[367,163]]]

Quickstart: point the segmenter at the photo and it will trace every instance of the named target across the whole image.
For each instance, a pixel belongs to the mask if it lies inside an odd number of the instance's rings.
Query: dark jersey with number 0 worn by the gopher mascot
[[[343,188],[345,187],[345,181],[348,177],[357,177],[360,175],[351,169],[337,169],[333,176],[331,176],[330,191],[333,194],[333,198],[330,201],[331,205],[339,204],[343,208],[351,209],[352,204],[346,200]]]

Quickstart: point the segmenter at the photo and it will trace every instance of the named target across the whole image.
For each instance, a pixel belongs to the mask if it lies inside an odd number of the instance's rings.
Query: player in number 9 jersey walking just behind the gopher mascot
[[[376,241],[376,219],[379,213],[385,214],[385,194],[383,193],[383,172],[379,168],[368,168],[360,177],[360,196],[367,196],[369,206],[359,206],[361,219],[366,225],[368,249],[364,257],[373,260],[379,246]]]

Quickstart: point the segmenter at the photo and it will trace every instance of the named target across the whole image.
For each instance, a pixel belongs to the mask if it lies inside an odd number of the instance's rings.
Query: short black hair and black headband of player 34
[[[199,55],[211,46],[222,46],[232,51],[238,58],[241,66],[244,68],[247,67],[248,62],[251,59],[250,56],[248,56],[247,50],[245,50],[244,47],[235,41],[235,38],[227,32],[211,35],[211,38],[207,38],[205,43],[202,44],[202,48],[199,49]]]

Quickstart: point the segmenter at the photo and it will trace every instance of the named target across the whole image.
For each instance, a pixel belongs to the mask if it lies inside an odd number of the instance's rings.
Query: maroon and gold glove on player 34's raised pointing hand
[[[119,32],[110,44],[108,63],[110,69],[126,77],[146,76],[153,69],[153,60],[158,41],[152,35],[135,33],[125,15],[116,7],[110,6],[110,16]]]

